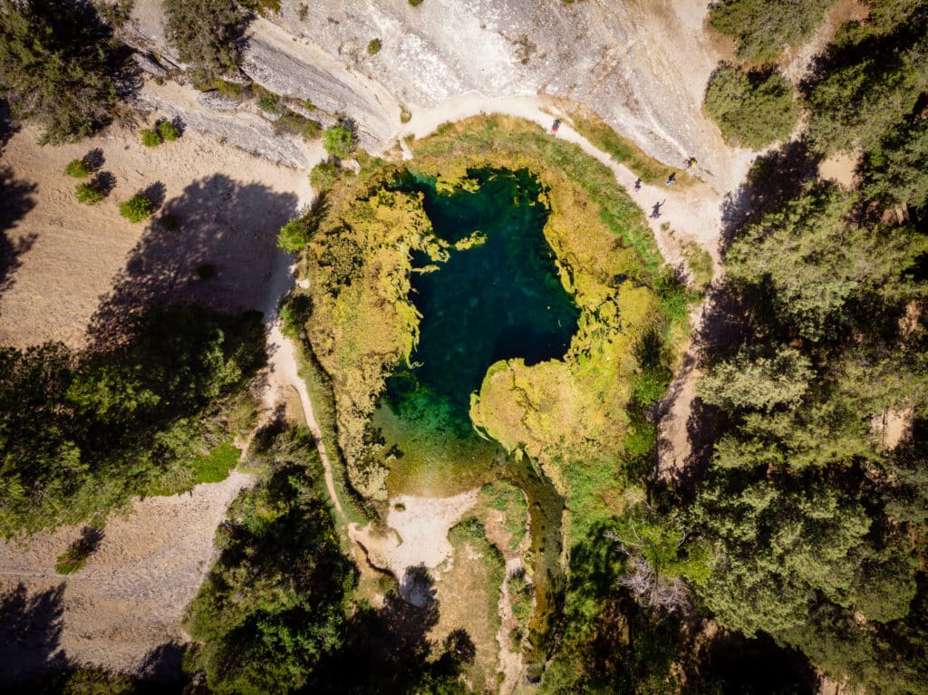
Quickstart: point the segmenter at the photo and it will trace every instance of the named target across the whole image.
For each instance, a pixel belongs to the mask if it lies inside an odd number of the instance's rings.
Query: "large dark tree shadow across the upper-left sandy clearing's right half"
[[[162,189],[159,182],[147,193],[163,198]],[[267,311],[277,302],[273,295],[286,290],[276,286],[289,278],[277,230],[296,208],[292,193],[240,184],[223,174],[191,183],[161,207],[162,216],[179,222],[179,230],[153,219],[112,290],[101,297],[88,328],[92,346],[121,342],[149,304],[196,303],[229,314]],[[198,269],[207,265],[213,275],[200,277]]]

